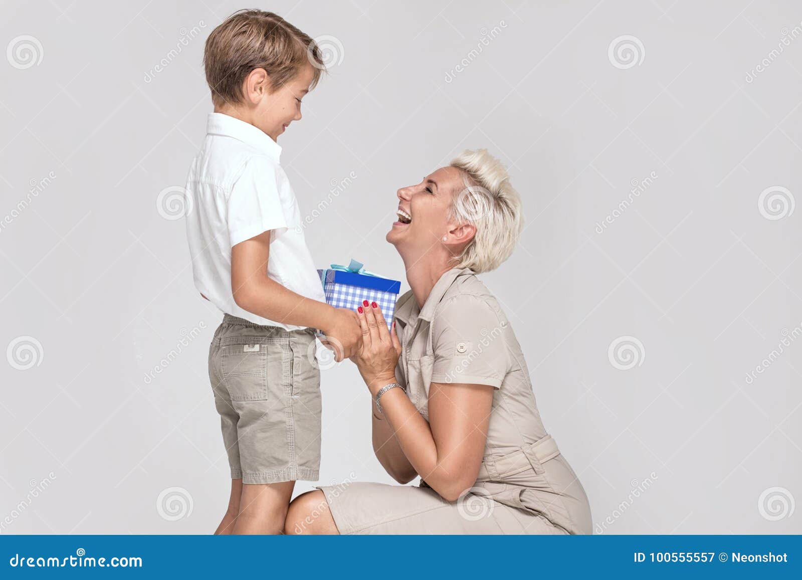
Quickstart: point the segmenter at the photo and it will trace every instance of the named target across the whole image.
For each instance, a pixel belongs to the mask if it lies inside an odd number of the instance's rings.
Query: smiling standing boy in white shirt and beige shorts
[[[322,58],[283,18],[241,10],[209,35],[204,65],[214,112],[189,170],[187,237],[195,286],[225,313],[209,349],[232,478],[216,533],[281,533],[295,481],[318,479],[313,328],[338,360],[362,339],[354,312],[326,304],[278,163]]]

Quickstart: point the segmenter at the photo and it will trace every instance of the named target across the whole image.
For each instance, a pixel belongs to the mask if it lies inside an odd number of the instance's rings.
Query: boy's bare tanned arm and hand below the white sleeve
[[[356,313],[296,294],[269,278],[269,250],[269,230],[231,249],[231,289],[237,306],[282,324],[319,328],[342,344],[343,357],[352,356],[362,338]]]

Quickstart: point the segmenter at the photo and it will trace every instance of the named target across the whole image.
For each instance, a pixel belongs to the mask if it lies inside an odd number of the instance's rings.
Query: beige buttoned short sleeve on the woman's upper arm
[[[484,298],[448,298],[432,324],[432,381],[501,386],[508,370],[507,326]]]

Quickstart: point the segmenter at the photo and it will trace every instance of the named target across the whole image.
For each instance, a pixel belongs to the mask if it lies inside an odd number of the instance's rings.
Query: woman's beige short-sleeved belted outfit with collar
[[[408,291],[395,321],[396,377],[426,420],[432,381],[495,387],[484,459],[470,493],[452,502],[423,480],[318,486],[340,533],[591,533],[585,489],[545,432],[520,345],[476,274],[448,270],[423,309]]]

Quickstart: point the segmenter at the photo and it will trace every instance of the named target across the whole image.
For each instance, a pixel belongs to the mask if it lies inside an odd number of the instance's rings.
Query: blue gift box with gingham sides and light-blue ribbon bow
[[[351,260],[348,266],[332,264],[326,270],[318,270],[318,274],[328,304],[356,310],[363,305],[363,300],[376,302],[382,309],[387,327],[391,326],[401,282],[368,272],[356,260]]]

